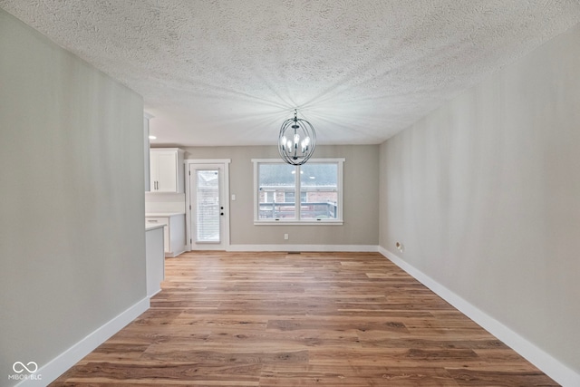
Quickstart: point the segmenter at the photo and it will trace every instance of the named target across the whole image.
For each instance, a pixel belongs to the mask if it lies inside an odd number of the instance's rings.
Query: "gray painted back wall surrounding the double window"
[[[272,132],[272,140],[276,132]],[[231,159],[229,189],[232,245],[372,245],[379,243],[379,146],[318,146],[314,159],[344,158],[342,226],[254,226],[252,159],[280,160],[273,147],[186,148],[186,159]],[[284,240],[284,234],[289,239]]]

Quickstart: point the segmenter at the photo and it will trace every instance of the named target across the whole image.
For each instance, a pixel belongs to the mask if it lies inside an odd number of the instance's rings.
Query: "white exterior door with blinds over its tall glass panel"
[[[189,163],[189,242],[192,250],[228,244],[225,165]]]

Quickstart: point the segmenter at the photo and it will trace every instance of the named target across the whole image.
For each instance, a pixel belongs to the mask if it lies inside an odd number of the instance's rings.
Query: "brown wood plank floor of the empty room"
[[[556,386],[377,253],[187,253],[65,385]]]

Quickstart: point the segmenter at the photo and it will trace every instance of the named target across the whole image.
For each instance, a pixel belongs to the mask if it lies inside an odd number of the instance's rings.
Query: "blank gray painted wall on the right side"
[[[380,245],[580,372],[580,27],[381,147]]]

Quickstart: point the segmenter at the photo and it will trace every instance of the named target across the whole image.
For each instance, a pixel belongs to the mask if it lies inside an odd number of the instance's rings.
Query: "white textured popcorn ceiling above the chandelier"
[[[578,0],[0,0],[139,92],[157,144],[380,143],[580,23]]]

